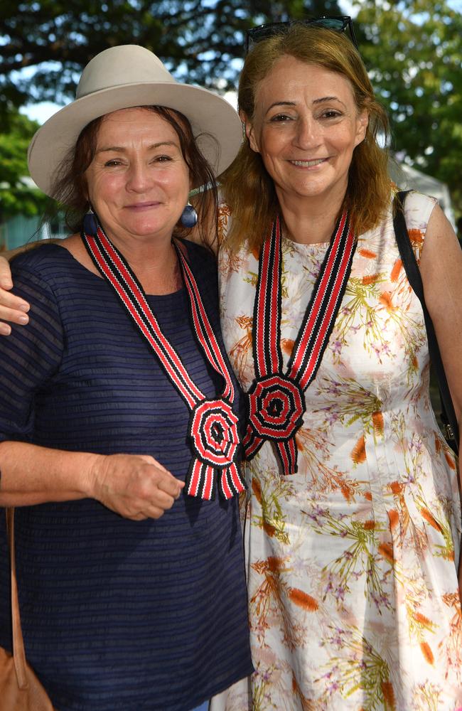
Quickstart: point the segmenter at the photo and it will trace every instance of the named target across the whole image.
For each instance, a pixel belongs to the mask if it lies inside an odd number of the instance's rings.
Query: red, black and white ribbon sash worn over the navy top
[[[114,288],[140,335],[146,338],[191,411],[188,436],[192,456],[186,476],[186,491],[190,496],[213,498],[215,471],[218,471],[220,496],[228,499],[240,493],[245,489],[245,481],[239,467],[241,442],[238,419],[232,411],[235,388],[186,257],[175,245],[190,301],[195,337],[210,365],[225,381],[221,397],[215,400],[206,398],[190,378],[178,353],[163,335],[141,284],[100,225],[96,236],[82,232],[82,240],[95,266]]]

